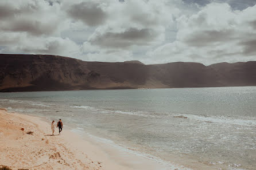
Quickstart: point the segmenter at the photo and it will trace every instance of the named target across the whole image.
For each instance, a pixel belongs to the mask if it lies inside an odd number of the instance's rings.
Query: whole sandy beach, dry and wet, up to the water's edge
[[[67,126],[61,135],[41,117],[0,109],[0,165],[15,169],[188,169],[163,164],[110,144],[81,137]],[[21,131],[24,128],[24,132]],[[26,132],[32,131],[32,135]],[[7,149],[6,149],[7,148]],[[4,156],[5,155],[5,156]]]

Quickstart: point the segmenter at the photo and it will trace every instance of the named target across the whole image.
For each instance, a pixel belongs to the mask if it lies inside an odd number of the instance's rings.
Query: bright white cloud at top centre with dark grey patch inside
[[[99,2],[98,2],[99,3]],[[107,5],[106,5],[107,4]],[[166,7],[165,1],[107,1],[102,5],[108,16],[88,39],[91,45],[107,49],[160,44],[165,29],[179,10]],[[133,11],[133,12],[131,12]]]

